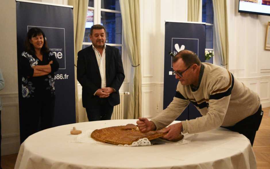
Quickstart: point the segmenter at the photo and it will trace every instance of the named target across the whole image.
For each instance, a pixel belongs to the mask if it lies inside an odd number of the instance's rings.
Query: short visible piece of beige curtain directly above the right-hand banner
[[[202,22],[202,0],[188,0],[188,21]]]

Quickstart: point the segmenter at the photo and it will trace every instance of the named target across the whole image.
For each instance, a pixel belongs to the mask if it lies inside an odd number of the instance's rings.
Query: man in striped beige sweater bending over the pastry
[[[179,80],[175,97],[151,121],[139,118],[137,124],[142,132],[171,124],[191,102],[202,117],[168,126],[165,139],[173,140],[181,132],[192,134],[222,126],[245,135],[253,145],[263,116],[257,93],[234,78],[227,69],[201,63],[192,51],[180,51],[173,58],[173,70]]]

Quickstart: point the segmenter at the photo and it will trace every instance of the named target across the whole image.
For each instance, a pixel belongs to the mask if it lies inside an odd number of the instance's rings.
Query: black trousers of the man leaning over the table
[[[253,146],[256,131],[259,130],[262,118],[263,111],[262,105],[260,105],[258,111],[255,114],[248,116],[247,118],[236,123],[234,126],[224,128],[227,128],[231,131],[239,132],[240,134],[246,136],[250,140],[251,146]]]

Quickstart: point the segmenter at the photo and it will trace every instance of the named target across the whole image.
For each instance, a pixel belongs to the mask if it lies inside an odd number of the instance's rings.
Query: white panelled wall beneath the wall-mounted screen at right
[[[270,50],[264,50],[270,16],[238,13],[238,1],[227,1],[229,70],[270,106]]]

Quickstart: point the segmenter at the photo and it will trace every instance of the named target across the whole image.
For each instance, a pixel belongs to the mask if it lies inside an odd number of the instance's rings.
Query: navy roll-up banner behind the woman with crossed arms
[[[67,5],[53,5],[33,1],[16,1],[18,91],[22,104],[22,75],[19,62],[24,51],[26,34],[31,28],[40,28],[46,35],[49,50],[59,62],[55,72],[55,115],[53,126],[76,122],[74,82],[73,9]],[[20,106],[21,107],[21,106]],[[19,108],[20,111],[22,111]]]

